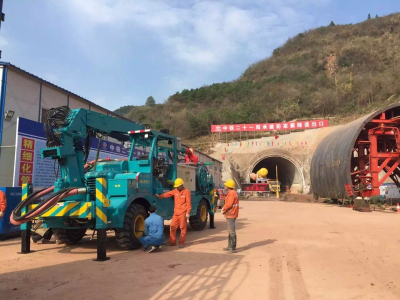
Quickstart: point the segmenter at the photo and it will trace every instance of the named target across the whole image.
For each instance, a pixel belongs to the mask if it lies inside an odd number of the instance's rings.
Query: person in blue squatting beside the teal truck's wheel
[[[154,206],[149,207],[149,217],[144,221],[144,236],[139,238],[143,249],[151,253],[164,244],[164,220],[156,213]]]

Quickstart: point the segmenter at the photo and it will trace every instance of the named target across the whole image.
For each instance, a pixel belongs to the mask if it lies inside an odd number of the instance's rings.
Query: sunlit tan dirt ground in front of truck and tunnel
[[[399,299],[400,214],[325,204],[241,201],[237,254],[224,219],[188,232],[184,249],[120,251],[93,262],[95,241],[0,242],[0,299]]]

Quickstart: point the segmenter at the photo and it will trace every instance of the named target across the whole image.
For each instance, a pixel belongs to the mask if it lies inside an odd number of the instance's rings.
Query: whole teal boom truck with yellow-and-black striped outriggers
[[[40,218],[66,243],[80,241],[88,229],[97,231],[97,260],[106,260],[107,230],[114,230],[122,249],[137,249],[150,205],[164,220],[172,218],[173,199],[155,195],[172,188],[177,177],[191,191],[189,223],[202,230],[214,213],[214,183],[205,165],[181,163],[184,155],[179,138],[167,131],[145,128],[132,121],[86,109],[68,107],[48,111],[44,124],[47,136],[42,158],[55,160],[60,176],[54,186],[33,192],[22,187],[22,201],[11,216],[22,230],[21,252],[30,252],[32,221]],[[90,139],[109,136],[130,144],[129,157],[88,162]],[[135,155],[138,153],[140,155]]]

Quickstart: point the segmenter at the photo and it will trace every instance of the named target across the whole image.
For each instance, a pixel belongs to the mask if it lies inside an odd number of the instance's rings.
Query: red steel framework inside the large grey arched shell
[[[374,117],[361,130],[351,158],[351,179],[356,195],[380,195],[379,187],[388,177],[400,187],[399,128],[400,116],[394,116],[390,110]]]

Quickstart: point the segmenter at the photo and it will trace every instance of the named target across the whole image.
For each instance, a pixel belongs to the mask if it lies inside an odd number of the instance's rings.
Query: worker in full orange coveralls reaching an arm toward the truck
[[[167,246],[176,245],[176,230],[181,229],[179,237],[179,248],[185,246],[187,219],[190,217],[192,210],[192,200],[190,191],[183,186],[184,182],[181,178],[177,178],[174,183],[174,190],[166,192],[162,195],[156,195],[159,199],[174,197],[174,216],[172,217],[170,226],[169,243]]]

